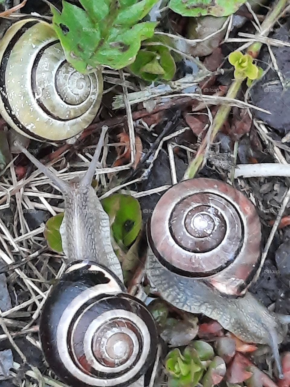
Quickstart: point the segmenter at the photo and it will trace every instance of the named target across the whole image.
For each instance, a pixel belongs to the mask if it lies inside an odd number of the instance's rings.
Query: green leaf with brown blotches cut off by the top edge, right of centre
[[[234,14],[246,0],[170,0],[169,8],[182,16],[205,15],[229,16]]]

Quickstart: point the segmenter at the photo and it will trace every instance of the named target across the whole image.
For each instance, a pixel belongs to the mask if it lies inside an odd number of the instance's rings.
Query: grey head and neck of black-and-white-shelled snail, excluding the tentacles
[[[94,259],[113,271],[121,281],[123,273],[111,243],[109,216],[94,188],[72,183],[65,198],[65,215],[60,226],[63,252],[69,263]]]

